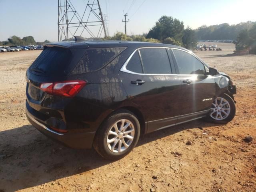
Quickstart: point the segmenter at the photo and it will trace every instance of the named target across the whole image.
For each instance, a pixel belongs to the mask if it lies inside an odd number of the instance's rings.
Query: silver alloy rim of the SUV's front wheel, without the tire
[[[230,104],[224,98],[217,97],[212,103],[210,117],[214,120],[224,120],[230,114]]]

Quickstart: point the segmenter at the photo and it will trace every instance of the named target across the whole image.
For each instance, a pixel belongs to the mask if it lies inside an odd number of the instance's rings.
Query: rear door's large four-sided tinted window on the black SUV
[[[140,49],[140,55],[146,74],[170,74],[171,66],[164,48]]]

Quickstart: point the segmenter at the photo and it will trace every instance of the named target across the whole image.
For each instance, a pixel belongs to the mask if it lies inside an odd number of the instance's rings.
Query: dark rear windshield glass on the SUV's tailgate
[[[72,53],[67,48],[48,47],[30,66],[30,71],[42,74],[59,74],[65,72],[72,59]]]

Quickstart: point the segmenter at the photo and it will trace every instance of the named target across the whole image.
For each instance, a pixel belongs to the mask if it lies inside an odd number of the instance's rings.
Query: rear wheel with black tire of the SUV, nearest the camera
[[[119,110],[107,118],[94,138],[94,149],[104,158],[118,160],[136,146],[140,123],[128,110]]]

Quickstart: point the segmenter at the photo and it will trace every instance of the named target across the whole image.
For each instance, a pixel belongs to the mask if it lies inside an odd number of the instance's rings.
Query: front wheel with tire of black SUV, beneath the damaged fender
[[[212,103],[208,119],[214,123],[228,123],[236,114],[234,100],[228,94],[218,96]]]

